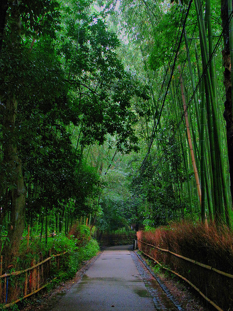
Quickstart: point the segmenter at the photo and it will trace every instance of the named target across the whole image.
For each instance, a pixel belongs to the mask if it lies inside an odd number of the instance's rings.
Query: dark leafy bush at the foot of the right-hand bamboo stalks
[[[175,126],[172,121],[171,126]],[[181,192],[185,181],[181,146],[172,137],[172,128],[169,133],[166,129],[157,132],[156,141],[160,144],[160,151],[155,154],[151,152],[147,165],[132,176],[132,190],[143,198],[138,205],[138,218],[146,226],[166,224],[187,205],[187,198]],[[163,163],[160,155],[163,156]]]

